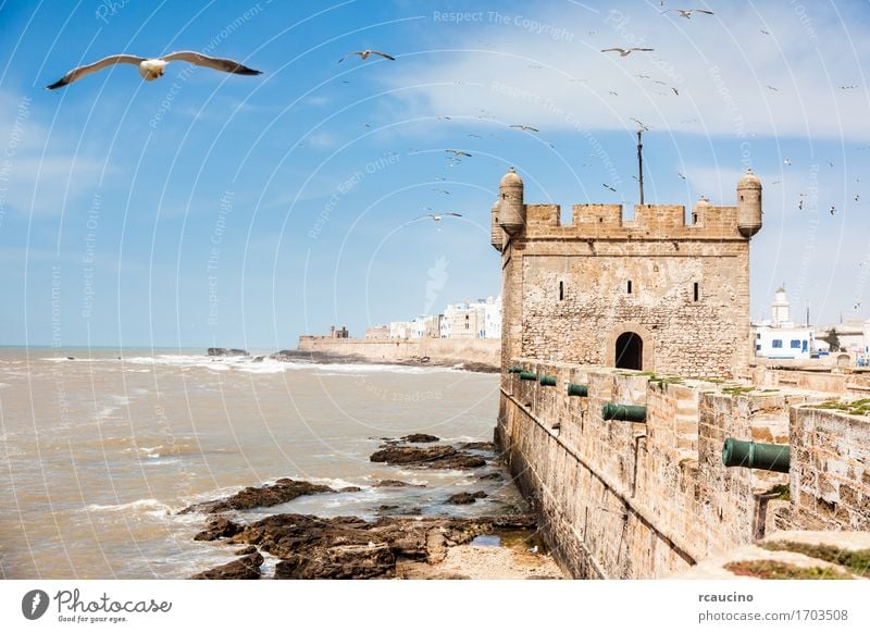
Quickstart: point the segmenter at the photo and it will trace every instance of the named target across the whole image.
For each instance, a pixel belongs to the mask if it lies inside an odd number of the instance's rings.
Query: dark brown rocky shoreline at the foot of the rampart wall
[[[403,468],[462,469],[478,480],[474,471],[497,459],[489,443],[457,446],[435,444],[428,435],[384,438],[371,461]],[[419,446],[420,444],[432,444]],[[489,473],[500,474],[500,473]],[[488,476],[494,480],[496,477]],[[499,477],[500,479],[500,477]],[[378,480],[372,487],[413,486],[400,480]],[[509,512],[486,517],[381,516],[366,521],[359,517],[315,517],[277,513],[245,522],[244,511],[285,504],[304,495],[357,493],[351,486],[332,488],[322,484],[279,479],[274,484],[247,487],[223,499],[196,504],[181,513],[198,512],[207,524],[195,541],[215,542],[234,547],[235,560],[197,573],[195,580],[256,580],[262,576],[265,557],[277,558],[275,579],[459,579],[475,578],[563,578],[551,558],[526,551],[536,539],[534,516]],[[459,493],[446,505],[469,505],[488,495],[483,491]],[[258,517],[262,517],[258,514]],[[475,545],[483,537],[487,545]],[[509,542],[512,548],[493,546]],[[451,551],[453,554],[451,555]],[[489,563],[481,567],[482,560]],[[493,561],[498,562],[494,563]],[[464,562],[463,562],[464,561]],[[468,561],[477,561],[469,564]]]

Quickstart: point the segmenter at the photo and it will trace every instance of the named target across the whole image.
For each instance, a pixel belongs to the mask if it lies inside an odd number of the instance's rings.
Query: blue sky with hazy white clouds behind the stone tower
[[[0,344],[288,348],[331,323],[361,335],[413,318],[433,274],[435,309],[495,295],[489,208],[507,167],[526,201],[631,209],[631,117],[650,127],[647,202],[733,204],[746,165],[762,178],[754,318],[784,283],[799,315],[867,319],[867,2],[692,7],[714,15],[660,1],[2,2]],[[337,63],[366,48],[397,60]],[[108,54],[175,50],[263,74],[173,62],[146,83],[120,65],[44,89]],[[406,224],[430,208],[463,218]]]

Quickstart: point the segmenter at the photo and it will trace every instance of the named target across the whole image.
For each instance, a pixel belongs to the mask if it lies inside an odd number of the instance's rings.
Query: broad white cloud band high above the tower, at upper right
[[[766,4],[753,13],[739,3],[684,20],[635,5],[601,13],[597,24],[588,11],[562,9],[537,27],[502,17],[495,37],[483,12],[480,29],[463,30],[455,52],[408,58],[390,85],[414,87],[399,92],[408,117],[485,111],[542,134],[621,129],[636,116],[706,135],[870,139],[862,75],[870,34],[822,9]],[[563,34],[554,37],[557,27]],[[613,47],[655,50],[600,52]],[[841,89],[848,85],[858,87]]]

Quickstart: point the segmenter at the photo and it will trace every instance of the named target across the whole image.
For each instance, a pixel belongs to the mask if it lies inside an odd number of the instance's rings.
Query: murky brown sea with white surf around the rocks
[[[385,438],[492,440],[498,376],[455,368],[210,358],[204,350],[0,348],[0,578],[187,579],[234,559],[179,510],[281,477],[357,493],[238,513],[520,511],[504,467],[373,463]],[[504,481],[482,481],[500,471]],[[380,480],[420,487],[375,487]],[[445,505],[482,489],[470,506]],[[266,556],[264,578],[276,561]]]

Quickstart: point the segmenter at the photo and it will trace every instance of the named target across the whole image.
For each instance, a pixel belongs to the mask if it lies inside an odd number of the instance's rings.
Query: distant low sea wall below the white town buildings
[[[428,357],[436,364],[475,363],[497,369],[500,339],[487,338],[321,338],[300,336],[298,351],[352,357],[371,362],[406,362]]]

